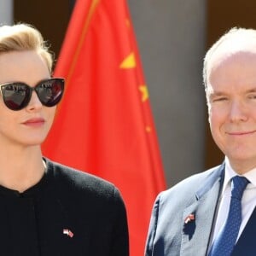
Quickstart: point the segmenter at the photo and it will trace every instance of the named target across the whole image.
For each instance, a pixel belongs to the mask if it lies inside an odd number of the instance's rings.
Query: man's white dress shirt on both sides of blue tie
[[[211,242],[214,241],[218,236],[218,233],[224,228],[224,223],[226,218],[228,218],[230,209],[231,178],[238,175],[230,166],[230,161],[227,158],[225,158],[224,172],[224,184],[218,201],[217,218],[215,219],[215,224],[213,226]],[[246,172],[242,176],[247,177],[247,180],[249,180],[250,183],[247,184],[241,198],[241,226],[237,240],[241,236],[241,232],[244,230],[247,221],[251,217],[254,207],[256,206],[256,168],[253,168],[253,170]]]

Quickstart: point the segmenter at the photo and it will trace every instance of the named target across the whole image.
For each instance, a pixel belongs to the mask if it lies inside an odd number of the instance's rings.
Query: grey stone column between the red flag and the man
[[[207,1],[128,3],[170,187],[205,168]]]

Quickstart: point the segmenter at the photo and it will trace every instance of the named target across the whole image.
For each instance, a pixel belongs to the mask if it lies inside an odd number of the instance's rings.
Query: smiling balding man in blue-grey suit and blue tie
[[[224,163],[160,193],[147,256],[256,255],[256,31],[233,28],[219,38],[203,76]],[[245,182],[237,198],[236,180]]]

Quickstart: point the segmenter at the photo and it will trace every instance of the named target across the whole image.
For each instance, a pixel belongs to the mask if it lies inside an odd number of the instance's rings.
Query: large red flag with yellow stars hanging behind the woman
[[[166,184],[125,0],[77,0],[55,76],[67,87],[44,155],[120,189],[131,256],[143,255],[154,199]]]

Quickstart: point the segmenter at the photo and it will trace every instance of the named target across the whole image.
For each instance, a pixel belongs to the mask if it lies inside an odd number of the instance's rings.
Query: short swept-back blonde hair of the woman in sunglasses
[[[49,73],[52,71],[54,55],[42,34],[32,25],[16,24],[0,26],[0,54],[9,51],[35,50],[46,62]]]

